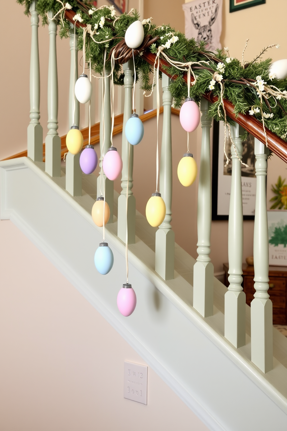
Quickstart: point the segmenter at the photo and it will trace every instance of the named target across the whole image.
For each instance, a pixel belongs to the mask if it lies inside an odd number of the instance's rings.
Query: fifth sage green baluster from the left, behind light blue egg
[[[118,199],[117,209],[117,236],[126,242],[127,219],[128,219],[128,244],[136,242],[136,198],[133,196],[133,145],[126,139],[124,133],[127,120],[132,113],[132,96],[133,96],[133,64],[129,60],[123,65],[124,72],[124,109],[123,109],[123,137],[122,137],[122,191]],[[130,148],[130,169],[128,166]],[[129,178],[128,178],[129,172]],[[128,198],[127,198],[127,181],[128,184]],[[127,201],[128,199],[128,201]],[[128,203],[128,214],[126,215],[126,206]]]

